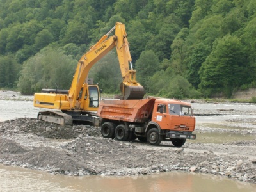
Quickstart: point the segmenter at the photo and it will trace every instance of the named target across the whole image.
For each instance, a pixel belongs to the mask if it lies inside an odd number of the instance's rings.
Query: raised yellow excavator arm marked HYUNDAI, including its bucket
[[[113,30],[115,30],[115,35],[108,38]],[[143,98],[145,91],[143,86],[136,81],[136,71],[132,69],[132,59],[125,26],[120,22],[116,22],[116,25],[106,35],[102,36],[99,42],[93,45],[79,60],[70,90],[68,91],[68,98],[72,100],[71,108],[76,106],[76,99],[90,68],[114,47],[116,47],[118,54],[123,79],[120,85],[122,99]],[[129,69],[129,64],[131,69]]]

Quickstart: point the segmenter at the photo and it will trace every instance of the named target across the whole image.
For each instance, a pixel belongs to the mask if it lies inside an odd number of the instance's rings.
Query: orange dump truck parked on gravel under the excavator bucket
[[[195,140],[195,116],[191,104],[150,97],[140,100],[102,100],[97,111],[104,138],[159,145],[162,140],[181,147]]]

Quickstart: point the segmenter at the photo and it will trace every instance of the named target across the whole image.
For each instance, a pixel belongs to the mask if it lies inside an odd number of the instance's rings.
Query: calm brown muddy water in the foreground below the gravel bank
[[[69,177],[0,164],[0,191],[256,191],[246,184],[215,175],[168,172],[138,177]]]

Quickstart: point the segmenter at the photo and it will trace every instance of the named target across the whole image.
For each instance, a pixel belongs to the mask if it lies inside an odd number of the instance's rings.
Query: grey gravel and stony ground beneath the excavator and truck
[[[201,112],[196,111],[201,115],[207,113]],[[253,122],[252,119],[243,122],[243,128],[248,125],[246,131],[250,134],[256,134]],[[210,129],[198,127],[198,131]],[[211,131],[220,130],[226,131]],[[0,122],[0,143],[1,163],[54,174],[124,176],[180,170],[256,183],[256,140],[186,143],[183,147],[162,141],[161,145],[152,146],[138,140],[104,139],[100,127],[61,126],[35,118],[17,118]]]

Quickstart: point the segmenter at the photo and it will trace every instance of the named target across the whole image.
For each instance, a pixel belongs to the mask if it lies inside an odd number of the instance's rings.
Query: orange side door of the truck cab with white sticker
[[[168,128],[168,113],[166,104],[157,104],[157,111],[154,114],[154,120],[160,125],[161,129]]]

